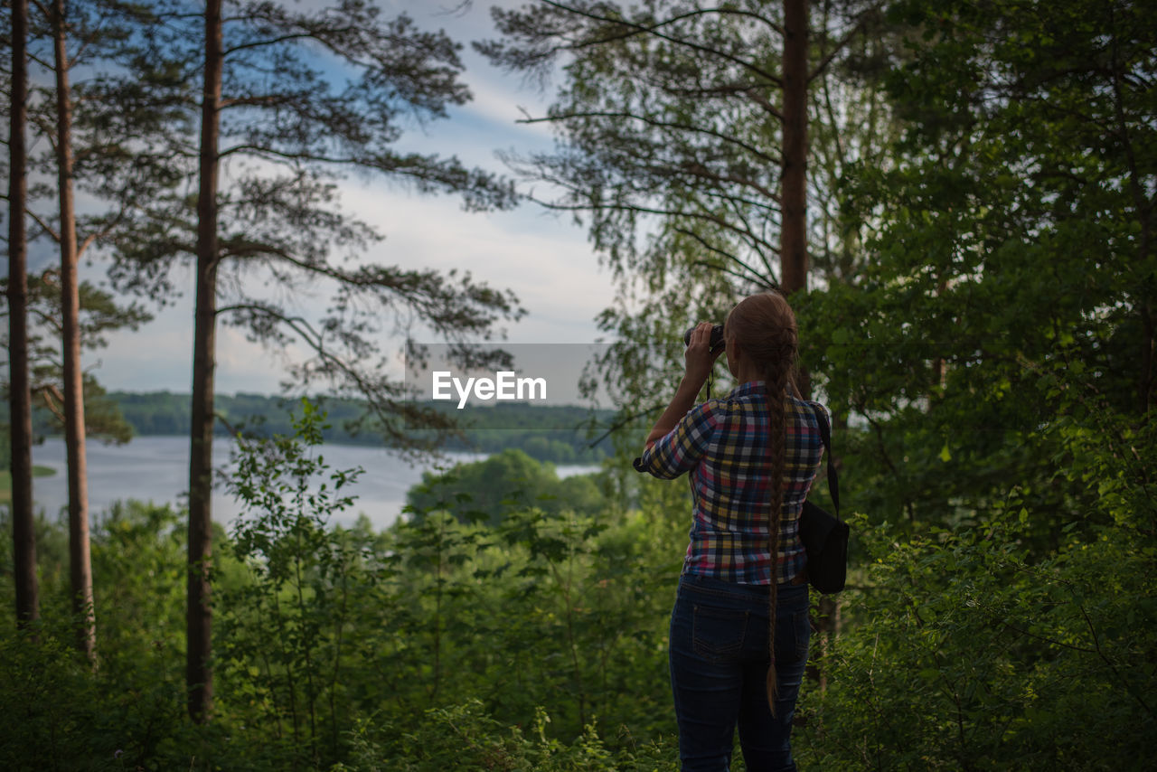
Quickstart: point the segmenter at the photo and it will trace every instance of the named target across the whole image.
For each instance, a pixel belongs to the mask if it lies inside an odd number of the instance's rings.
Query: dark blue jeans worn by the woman
[[[671,690],[683,772],[727,772],[735,728],[749,772],[794,771],[791,716],[808,664],[808,584],[780,584],[773,718],[767,587],[684,575],[671,612]]]

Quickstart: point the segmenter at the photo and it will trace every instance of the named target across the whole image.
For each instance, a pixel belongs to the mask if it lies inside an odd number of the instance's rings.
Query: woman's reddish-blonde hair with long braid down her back
[[[795,366],[799,352],[799,334],[795,314],[787,299],[778,292],[760,293],[742,300],[727,317],[725,337],[735,338],[744,355],[756,362],[764,376],[767,413],[771,419],[768,475],[771,508],[767,519],[767,549],[772,582],[768,593],[771,628],[768,631],[767,705],[775,715],[775,605],[776,574],[780,551],[780,522],[783,517],[783,471],[787,464],[788,387],[795,384]]]

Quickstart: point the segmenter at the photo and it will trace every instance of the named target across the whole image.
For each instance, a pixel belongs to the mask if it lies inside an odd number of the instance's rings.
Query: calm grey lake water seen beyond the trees
[[[88,508],[96,521],[115,501],[139,499],[180,506],[189,491],[189,438],[139,436],[123,446],[108,446],[90,440],[88,448]],[[229,469],[233,440],[213,441],[213,459],[218,469]],[[352,524],[364,513],[378,530],[388,528],[406,503],[406,491],[421,481],[422,472],[459,462],[479,461],[484,454],[448,453],[443,461],[411,464],[398,453],[366,446],[324,444],[320,453],[331,469],[366,470],[347,490],[358,497],[354,506],[334,517],[334,522]],[[32,463],[57,470],[51,477],[32,480],[32,498],[50,516],[68,506],[68,478],[65,466],[65,443],[49,439],[32,447]],[[558,466],[559,477],[598,471],[597,465]],[[220,484],[213,491],[213,520],[231,523],[241,506]]]

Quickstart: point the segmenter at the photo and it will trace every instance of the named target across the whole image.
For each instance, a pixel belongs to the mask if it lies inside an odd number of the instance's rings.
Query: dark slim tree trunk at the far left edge
[[[40,616],[32,520],[32,395],[28,382],[28,0],[12,3],[12,115],[8,132],[8,365],[12,422],[12,538],[16,622]]]

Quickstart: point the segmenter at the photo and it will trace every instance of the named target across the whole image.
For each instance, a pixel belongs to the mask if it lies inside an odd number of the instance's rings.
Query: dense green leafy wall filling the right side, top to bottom
[[[891,76],[894,163],[848,179],[872,259],[797,303],[847,418],[840,481],[870,513],[802,756],[1145,769],[1152,17],[1079,0],[891,13],[922,34]]]

